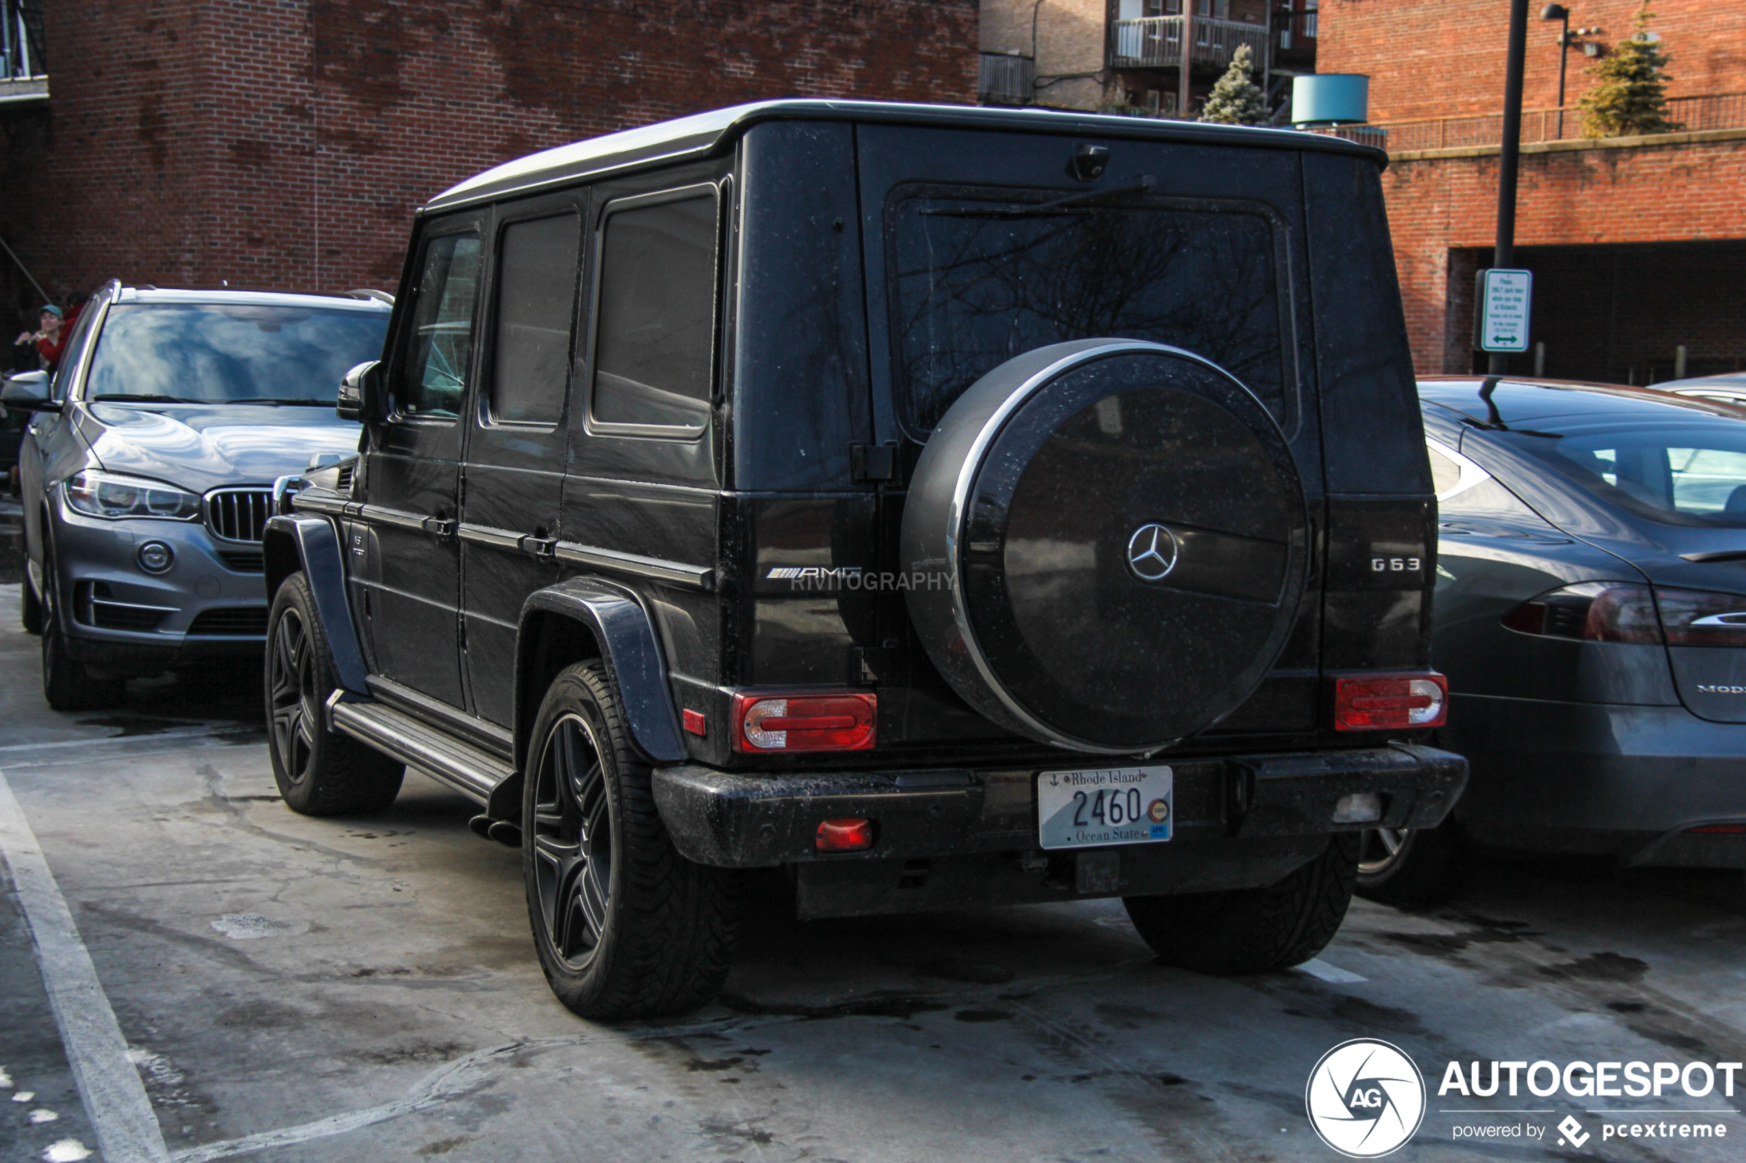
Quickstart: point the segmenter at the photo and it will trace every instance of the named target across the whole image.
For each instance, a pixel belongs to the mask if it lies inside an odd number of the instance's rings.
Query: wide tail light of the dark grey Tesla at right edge
[[[1503,624],[1524,635],[1676,647],[1746,645],[1746,596],[1580,582],[1523,602]]]

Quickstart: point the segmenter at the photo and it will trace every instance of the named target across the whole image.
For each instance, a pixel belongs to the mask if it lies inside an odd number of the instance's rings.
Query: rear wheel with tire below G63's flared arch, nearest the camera
[[[578,1015],[684,1013],[726,980],[740,874],[674,849],[599,664],[559,673],[534,720],[522,875],[540,968]]]

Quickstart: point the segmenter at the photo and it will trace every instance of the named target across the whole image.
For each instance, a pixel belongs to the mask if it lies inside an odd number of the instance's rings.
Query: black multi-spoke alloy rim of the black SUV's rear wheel
[[[581,715],[546,732],[533,797],[534,893],[552,952],[583,973],[606,931],[613,821],[601,748]]]

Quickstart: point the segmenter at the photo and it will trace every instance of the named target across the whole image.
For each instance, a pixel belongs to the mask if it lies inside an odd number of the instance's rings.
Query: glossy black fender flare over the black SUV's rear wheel
[[[625,720],[636,745],[656,764],[677,764],[690,758],[679,734],[679,715],[672,706],[667,685],[667,661],[662,657],[655,622],[630,593],[595,577],[571,577],[529,595],[522,603],[520,629],[515,635],[515,673],[526,675],[533,664],[536,642],[531,642],[533,614],[550,612],[585,624],[601,645],[608,671],[618,687]],[[522,711],[529,713],[524,715]],[[515,722],[531,722],[533,708],[517,708]],[[517,731],[515,767],[526,769],[527,741]]]

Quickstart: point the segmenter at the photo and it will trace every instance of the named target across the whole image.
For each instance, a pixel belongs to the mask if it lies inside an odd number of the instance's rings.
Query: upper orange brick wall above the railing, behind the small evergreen
[[[1557,105],[1557,30],[1528,12],[1523,108]],[[1613,45],[1631,33],[1638,0],[1568,0],[1571,28],[1601,28]],[[1746,91],[1746,3],[1657,0],[1650,24],[1673,56],[1667,96]],[[1316,47],[1320,73],[1369,73],[1371,120],[1496,113],[1503,103],[1509,3],[1503,0],[1323,0]],[[1589,87],[1570,52],[1566,103]]]

